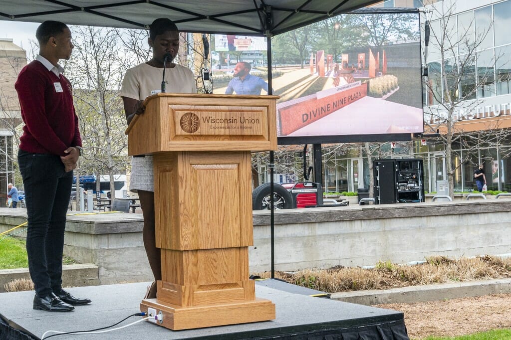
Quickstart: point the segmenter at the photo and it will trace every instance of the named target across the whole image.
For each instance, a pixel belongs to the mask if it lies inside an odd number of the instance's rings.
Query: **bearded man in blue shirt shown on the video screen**
[[[268,83],[262,78],[250,75],[250,63],[241,61],[234,68],[234,78],[231,79],[225,94],[261,94],[261,89],[268,92]]]

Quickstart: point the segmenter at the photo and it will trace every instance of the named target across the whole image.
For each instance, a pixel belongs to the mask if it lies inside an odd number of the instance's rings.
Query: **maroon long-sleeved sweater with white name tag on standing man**
[[[82,145],[73,88],[37,60],[19,72],[14,84],[25,126],[19,148],[33,153],[65,156],[64,150]]]

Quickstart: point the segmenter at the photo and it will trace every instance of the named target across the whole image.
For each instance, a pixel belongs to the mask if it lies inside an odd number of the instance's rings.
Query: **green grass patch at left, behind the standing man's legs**
[[[8,237],[0,241],[0,269],[28,268],[25,239]],[[63,264],[77,263],[74,259],[64,256]]]

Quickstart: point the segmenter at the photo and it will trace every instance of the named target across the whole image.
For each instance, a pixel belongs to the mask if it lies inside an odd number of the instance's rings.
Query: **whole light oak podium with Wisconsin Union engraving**
[[[130,155],[154,155],[162,280],[141,311],[173,329],[275,319],[255,297],[251,151],[276,149],[278,96],[158,93],[129,125]]]

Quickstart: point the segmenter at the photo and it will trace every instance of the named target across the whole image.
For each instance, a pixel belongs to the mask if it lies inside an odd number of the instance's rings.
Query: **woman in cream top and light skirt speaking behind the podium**
[[[121,88],[128,125],[136,114],[144,114],[144,100],[162,88],[170,93],[197,93],[193,72],[172,62],[179,50],[179,31],[174,22],[167,18],[154,20],[147,41],[153,51],[152,59],[128,69]],[[154,231],[153,156],[132,158],[130,191],[138,193],[144,215],[144,248],[154,279],[161,280],[160,250],[156,248]],[[156,281],[148,287],[145,296],[145,299],[153,298],[156,298]]]

